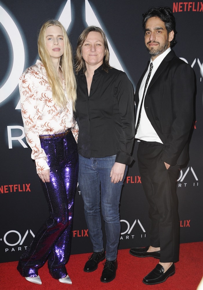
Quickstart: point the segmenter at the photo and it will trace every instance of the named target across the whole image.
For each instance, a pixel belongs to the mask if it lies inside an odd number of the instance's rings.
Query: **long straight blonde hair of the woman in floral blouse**
[[[60,78],[56,72],[55,67],[53,66],[51,57],[46,49],[46,30],[49,26],[59,26],[63,31],[64,36],[64,54],[60,59],[60,66],[64,76],[64,82],[66,85],[68,99],[73,103],[73,110],[75,110],[75,101],[76,101],[76,80],[75,74],[73,71],[73,53],[72,46],[68,39],[68,35],[64,26],[57,20],[48,20],[46,21],[40,31],[38,36],[38,53],[41,62],[46,69],[49,85],[52,89],[52,98],[54,103],[60,107],[66,107],[67,99],[64,94],[63,87],[61,85]]]

